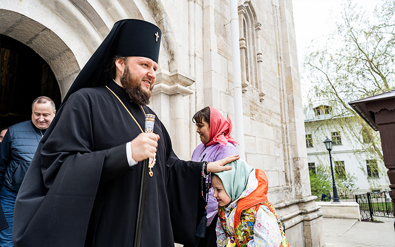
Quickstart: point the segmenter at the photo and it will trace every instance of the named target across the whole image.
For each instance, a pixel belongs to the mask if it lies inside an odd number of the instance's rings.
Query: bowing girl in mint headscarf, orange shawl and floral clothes
[[[212,174],[218,202],[219,247],[289,247],[276,209],[268,202],[265,172],[242,160],[232,170]]]

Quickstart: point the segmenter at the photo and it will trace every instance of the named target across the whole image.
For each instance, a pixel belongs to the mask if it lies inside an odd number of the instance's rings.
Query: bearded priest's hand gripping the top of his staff
[[[154,157],[157,152],[159,135],[155,133],[141,133],[130,142],[132,158],[136,162]]]

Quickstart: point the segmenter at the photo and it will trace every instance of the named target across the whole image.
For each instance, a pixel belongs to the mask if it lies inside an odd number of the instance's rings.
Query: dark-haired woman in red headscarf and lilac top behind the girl
[[[193,161],[213,162],[221,160],[230,155],[237,155],[236,140],[231,136],[232,122],[227,119],[214,107],[205,107],[198,111],[192,120],[196,126],[196,132],[202,142],[197,146],[192,154]],[[211,183],[210,175],[207,176],[206,183]],[[200,239],[198,247],[216,247],[217,236],[215,226],[217,223],[218,203],[213,197],[213,188],[207,193],[207,223],[205,237]]]

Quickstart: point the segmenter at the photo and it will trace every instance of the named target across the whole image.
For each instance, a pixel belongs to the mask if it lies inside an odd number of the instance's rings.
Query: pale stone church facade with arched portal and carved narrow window
[[[310,191],[292,2],[240,0],[238,17],[242,116],[234,111],[227,0],[0,0],[0,34],[46,61],[62,97],[116,21],[158,25],[159,69],[150,107],[169,131],[175,153],[191,158],[199,144],[192,116],[205,106],[229,114],[234,123],[242,118],[245,159],[266,172],[268,198],[290,245],[324,246],[322,212]]]

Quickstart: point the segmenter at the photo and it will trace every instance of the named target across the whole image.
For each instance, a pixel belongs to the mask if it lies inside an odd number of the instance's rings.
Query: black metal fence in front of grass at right
[[[359,204],[362,220],[372,219],[373,216],[394,217],[394,204],[389,191],[355,195],[355,201]]]

